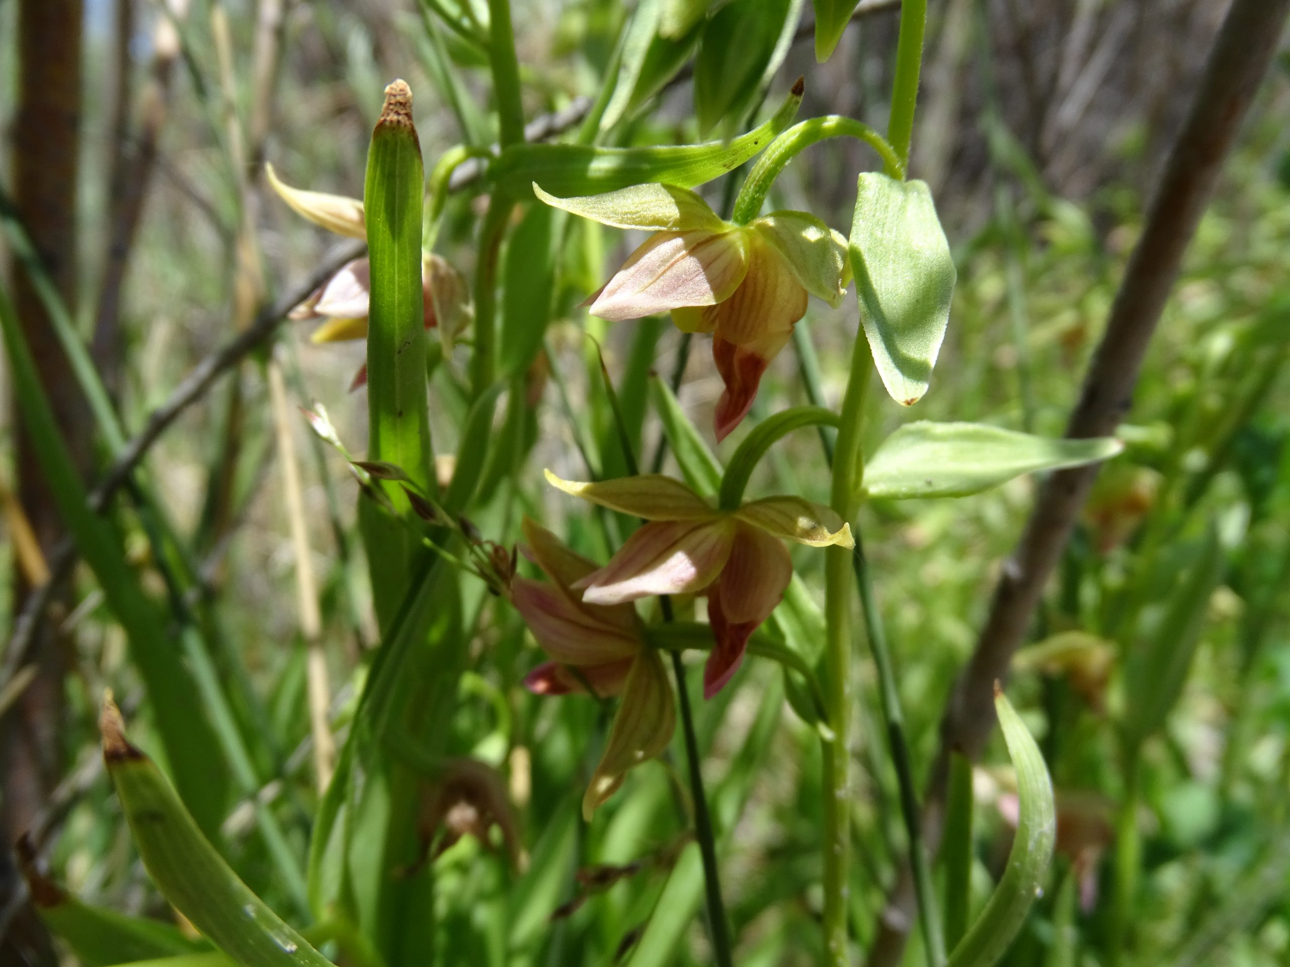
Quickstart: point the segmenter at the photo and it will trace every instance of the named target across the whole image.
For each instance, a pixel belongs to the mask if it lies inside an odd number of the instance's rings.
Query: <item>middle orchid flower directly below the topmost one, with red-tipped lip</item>
[[[703,669],[703,695],[710,699],[739,669],[748,638],[784,596],[793,565],[783,542],[855,545],[837,513],[800,496],[768,496],[726,511],[660,474],[578,484],[547,471],[547,481],[646,521],[609,563],[570,584],[582,591],[584,605],[707,594],[715,640]]]

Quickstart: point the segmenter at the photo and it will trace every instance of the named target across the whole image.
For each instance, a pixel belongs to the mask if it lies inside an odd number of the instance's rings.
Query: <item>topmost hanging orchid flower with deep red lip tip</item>
[[[838,306],[850,282],[846,240],[805,211],[775,211],[746,226],[726,222],[686,188],[636,184],[548,205],[615,228],[651,231],[591,298],[608,320],[671,312],[686,333],[712,334],[712,360],[725,383],[717,440],[739,425],[761,375],[806,313],[808,293]]]

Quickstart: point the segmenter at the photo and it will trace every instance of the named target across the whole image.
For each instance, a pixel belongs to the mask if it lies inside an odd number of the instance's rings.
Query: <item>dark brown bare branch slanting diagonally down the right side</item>
[[[1129,411],[1134,386],[1183,254],[1209,205],[1223,161],[1259,89],[1290,13],[1290,0],[1233,0],[1214,41],[1205,75],[1148,209],[1138,248],[1125,271],[1107,329],[1085,376],[1067,436],[1115,433]],[[1040,491],[1017,552],[1004,565],[989,616],[951,692],[940,723],[940,750],[924,812],[929,847],[939,843],[952,750],[978,758],[995,727],[993,683],[1007,674],[1047,583],[1075,530],[1098,465],[1054,473]],[[884,912],[869,963],[897,963],[912,912],[909,877],[900,878]]]

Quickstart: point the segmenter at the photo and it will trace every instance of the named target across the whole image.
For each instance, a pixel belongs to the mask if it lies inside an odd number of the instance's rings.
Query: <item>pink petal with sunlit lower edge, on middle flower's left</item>
[[[693,593],[721,572],[733,543],[734,525],[728,518],[654,521],[632,534],[608,565],[573,587],[586,588],[582,600],[593,605]]]

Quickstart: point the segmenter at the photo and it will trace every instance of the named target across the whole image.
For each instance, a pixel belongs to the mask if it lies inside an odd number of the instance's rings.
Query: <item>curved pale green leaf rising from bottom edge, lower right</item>
[[[991,967],[1007,950],[1044,884],[1053,843],[1057,808],[1044,756],[1020,716],[996,686],[995,712],[1017,770],[1019,816],[1007,866],[968,935],[949,954],[947,967]]]

